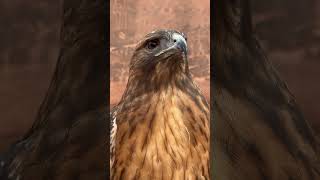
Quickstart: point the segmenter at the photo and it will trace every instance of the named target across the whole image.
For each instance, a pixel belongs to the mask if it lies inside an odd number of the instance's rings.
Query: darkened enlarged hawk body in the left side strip
[[[106,179],[108,2],[63,6],[50,87],[32,128],[1,158],[0,179]]]

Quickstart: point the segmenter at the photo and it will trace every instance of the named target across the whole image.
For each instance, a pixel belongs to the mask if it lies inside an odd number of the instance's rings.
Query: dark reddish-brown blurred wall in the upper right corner
[[[320,134],[320,1],[251,2],[258,39]]]

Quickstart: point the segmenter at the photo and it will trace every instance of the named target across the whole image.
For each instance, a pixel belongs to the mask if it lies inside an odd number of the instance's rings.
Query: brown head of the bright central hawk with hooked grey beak
[[[188,74],[187,38],[176,30],[157,30],[138,43],[131,62],[129,77],[148,78],[150,83]],[[145,77],[145,78],[141,78]]]

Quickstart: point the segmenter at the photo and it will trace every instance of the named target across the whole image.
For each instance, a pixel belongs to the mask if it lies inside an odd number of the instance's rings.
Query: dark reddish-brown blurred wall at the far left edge
[[[31,127],[59,53],[62,0],[0,1],[0,153]]]

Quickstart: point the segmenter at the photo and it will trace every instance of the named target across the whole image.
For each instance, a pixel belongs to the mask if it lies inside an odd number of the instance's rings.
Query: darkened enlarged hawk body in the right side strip
[[[212,179],[319,179],[319,141],[256,40],[250,2],[213,12]]]

